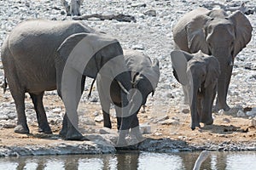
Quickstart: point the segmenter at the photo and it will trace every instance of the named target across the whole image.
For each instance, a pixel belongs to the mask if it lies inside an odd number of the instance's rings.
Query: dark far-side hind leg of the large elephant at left
[[[52,133],[47,121],[47,116],[44,111],[43,105],[43,95],[44,92],[40,94],[30,94],[32,98],[32,102],[34,105],[34,109],[37,113],[38,118],[38,132],[40,133]]]

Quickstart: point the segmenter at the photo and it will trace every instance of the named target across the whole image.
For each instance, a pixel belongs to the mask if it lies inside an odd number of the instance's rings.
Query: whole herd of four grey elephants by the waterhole
[[[172,28],[173,75],[183,86],[190,105],[191,128],[212,124],[212,105],[228,111],[227,92],[233,62],[252,37],[252,26],[240,11],[195,9]],[[79,21],[27,20],[16,26],[3,42],[1,58],[15,99],[18,122],[15,133],[29,133],[25,94],[30,94],[38,118],[38,131],[51,133],[44,111],[44,91],[57,89],[66,113],[60,135],[82,139],[78,105],[85,77],[96,79],[104,127],[111,128],[110,105],[117,114],[119,144],[134,133],[141,139],[137,113],[160,79],[160,61],[134,50],[123,50],[117,39]]]

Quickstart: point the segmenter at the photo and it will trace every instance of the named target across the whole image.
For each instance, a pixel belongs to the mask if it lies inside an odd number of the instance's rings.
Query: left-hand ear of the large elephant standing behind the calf
[[[188,48],[191,54],[196,53],[199,50],[205,54],[209,54],[206,42],[206,32],[204,29],[208,20],[212,20],[212,18],[205,14],[201,14],[196,16],[186,26]]]

